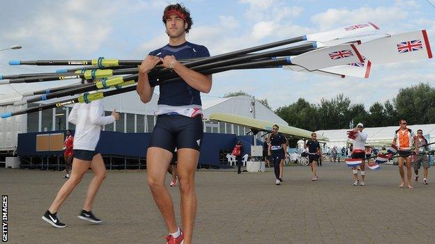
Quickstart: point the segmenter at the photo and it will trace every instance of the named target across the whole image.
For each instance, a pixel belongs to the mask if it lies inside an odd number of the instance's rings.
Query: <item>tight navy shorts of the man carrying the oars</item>
[[[201,149],[204,135],[202,117],[158,115],[148,147],[160,147],[174,152],[175,147]]]

